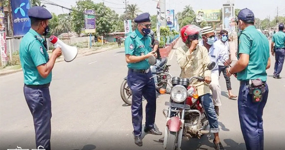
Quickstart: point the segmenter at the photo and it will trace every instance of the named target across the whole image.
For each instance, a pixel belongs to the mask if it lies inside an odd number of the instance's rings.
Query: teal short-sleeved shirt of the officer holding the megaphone
[[[20,43],[20,61],[24,72],[26,85],[44,85],[52,81],[52,72],[43,78],[37,66],[49,61],[49,54],[43,44],[44,39],[33,29],[30,29]]]

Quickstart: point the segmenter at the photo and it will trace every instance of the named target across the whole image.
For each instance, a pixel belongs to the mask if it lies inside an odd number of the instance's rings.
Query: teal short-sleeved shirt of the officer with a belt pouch
[[[266,66],[269,59],[269,42],[254,25],[246,27],[239,37],[238,54],[248,54],[248,66],[237,73],[237,80],[267,80]],[[239,57],[239,55],[238,55]]]

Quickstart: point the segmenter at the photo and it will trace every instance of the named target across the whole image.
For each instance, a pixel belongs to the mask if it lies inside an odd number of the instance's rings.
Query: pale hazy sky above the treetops
[[[71,5],[76,5],[77,0],[50,0],[59,5],[71,8]],[[95,3],[104,2],[106,6],[111,7],[118,14],[123,14],[125,0],[93,0]],[[138,4],[142,12],[149,12],[151,15],[156,14],[156,0],[127,0],[128,4]],[[220,9],[227,0],[166,0],[166,9],[175,9],[175,12],[182,11],[185,5],[191,5],[193,10],[199,9]],[[277,6],[279,7],[279,16],[285,16],[285,3],[284,0],[234,0],[235,8],[249,8],[255,16],[260,19],[265,19],[270,15],[271,20],[277,13]],[[47,9],[55,14],[68,13],[69,11],[57,6],[47,5]]]

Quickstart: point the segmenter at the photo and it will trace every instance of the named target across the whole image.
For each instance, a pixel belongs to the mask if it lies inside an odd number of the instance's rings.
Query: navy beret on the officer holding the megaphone
[[[37,18],[40,20],[52,19],[52,14],[46,8],[41,6],[31,7],[27,14],[29,18]]]

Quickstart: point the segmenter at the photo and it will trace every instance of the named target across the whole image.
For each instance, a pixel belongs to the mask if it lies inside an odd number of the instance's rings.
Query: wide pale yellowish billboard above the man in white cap
[[[220,9],[205,9],[196,11],[196,21],[216,22],[220,21]]]

